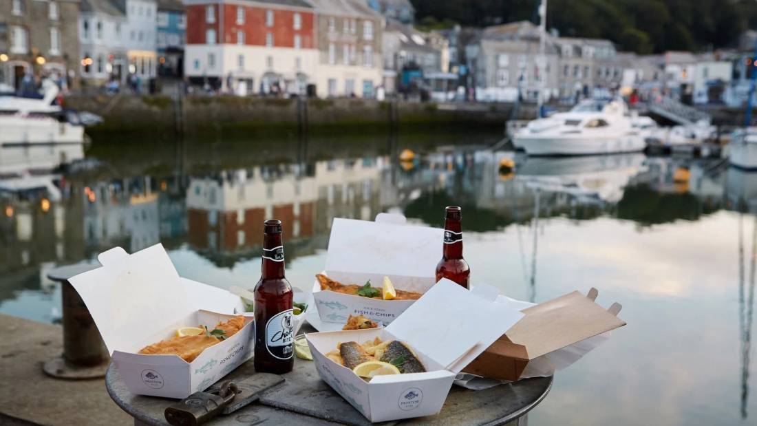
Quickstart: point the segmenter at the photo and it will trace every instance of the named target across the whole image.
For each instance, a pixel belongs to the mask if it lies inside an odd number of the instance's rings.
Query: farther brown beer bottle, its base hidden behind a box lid
[[[444,209],[444,244],[441,260],[436,266],[436,281],[447,278],[468,288],[471,269],[463,259],[463,232],[460,225],[460,207]]]

